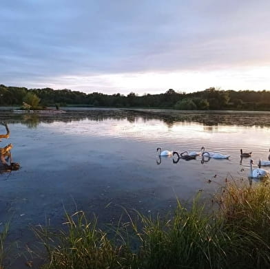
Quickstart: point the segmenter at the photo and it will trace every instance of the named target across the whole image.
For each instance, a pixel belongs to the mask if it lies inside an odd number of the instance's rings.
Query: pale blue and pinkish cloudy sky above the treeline
[[[269,0],[1,0],[0,84],[270,89]]]

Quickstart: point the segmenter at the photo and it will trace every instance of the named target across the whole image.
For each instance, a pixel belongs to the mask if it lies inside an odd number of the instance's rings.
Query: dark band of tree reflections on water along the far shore
[[[67,111],[65,114],[54,115],[35,115],[35,114],[11,114],[10,112],[1,112],[0,120],[16,123],[20,122],[28,128],[36,128],[40,122],[72,122],[80,120],[128,120],[131,123],[143,120],[160,120],[173,127],[178,122],[185,125],[191,122],[198,122],[204,125],[205,131],[216,131],[219,125],[238,125],[238,126],[256,126],[270,127],[269,113],[265,112],[179,112],[179,111],[143,111],[143,110],[84,110],[84,111]]]

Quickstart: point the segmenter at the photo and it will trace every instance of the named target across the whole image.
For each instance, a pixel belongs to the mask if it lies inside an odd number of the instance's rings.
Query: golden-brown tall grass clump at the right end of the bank
[[[270,268],[269,182],[253,187],[231,182],[224,191],[220,195],[220,217],[225,222],[224,230],[237,233],[242,240],[238,250],[242,262],[250,268]]]

